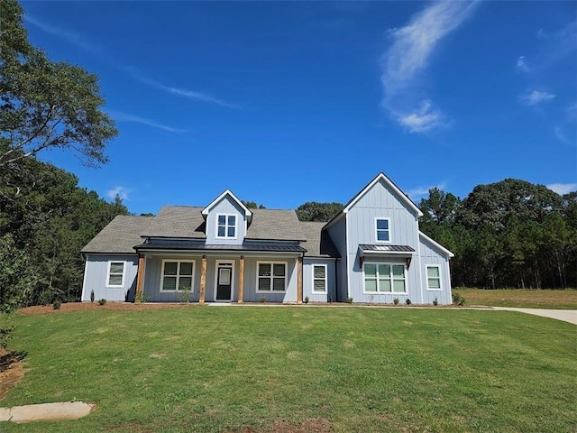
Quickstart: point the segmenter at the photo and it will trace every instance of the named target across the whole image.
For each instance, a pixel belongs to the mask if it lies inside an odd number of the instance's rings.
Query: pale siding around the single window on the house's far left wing
[[[107,287],[109,262],[124,263],[124,284],[122,287]],[[106,299],[124,302],[124,300],[134,299],[138,255],[87,254],[84,272],[82,301],[90,300],[92,290],[94,290],[94,299],[96,300]]]

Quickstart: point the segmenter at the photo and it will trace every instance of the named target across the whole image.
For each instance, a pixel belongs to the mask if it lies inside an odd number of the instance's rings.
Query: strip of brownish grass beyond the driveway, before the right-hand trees
[[[467,299],[467,305],[518,307],[526,309],[577,309],[577,290],[480,290],[453,289]]]

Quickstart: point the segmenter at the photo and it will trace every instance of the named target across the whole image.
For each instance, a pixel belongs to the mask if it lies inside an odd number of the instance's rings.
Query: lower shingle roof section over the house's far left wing
[[[84,248],[82,253],[134,253],[133,246],[142,244],[142,232],[148,230],[155,217],[115,217]]]

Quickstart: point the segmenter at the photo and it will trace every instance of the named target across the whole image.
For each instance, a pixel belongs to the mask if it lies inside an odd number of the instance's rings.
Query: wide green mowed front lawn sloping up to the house
[[[28,351],[28,372],[2,406],[77,400],[96,410],[0,423],[7,432],[266,432],[303,422],[335,432],[577,431],[577,327],[547,318],[254,306],[10,320],[10,347]]]

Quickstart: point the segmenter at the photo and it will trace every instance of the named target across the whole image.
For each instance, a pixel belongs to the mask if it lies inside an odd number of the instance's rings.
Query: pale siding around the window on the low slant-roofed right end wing
[[[423,293],[425,299],[424,304],[432,304],[435,298],[439,305],[449,305],[453,303],[453,296],[451,293],[451,272],[449,266],[449,257],[446,253],[439,251],[435,244],[431,244],[426,238],[419,236],[420,245],[419,251],[421,253],[421,266],[423,272]],[[438,265],[441,276],[441,290],[427,290],[427,265]]]

